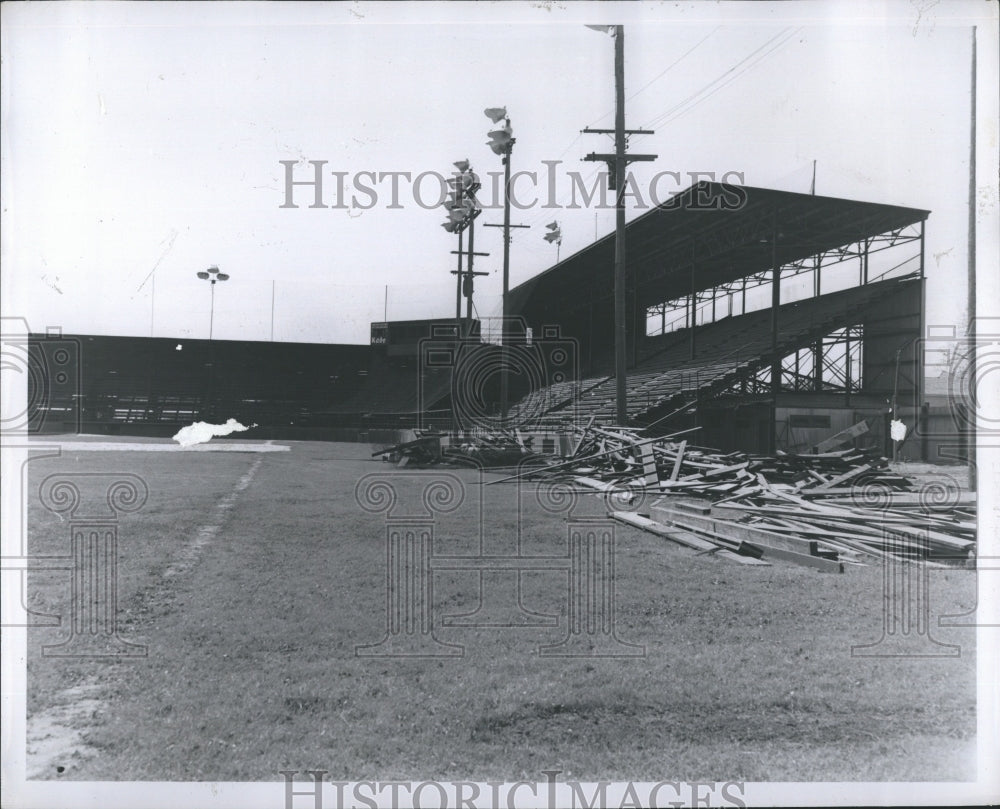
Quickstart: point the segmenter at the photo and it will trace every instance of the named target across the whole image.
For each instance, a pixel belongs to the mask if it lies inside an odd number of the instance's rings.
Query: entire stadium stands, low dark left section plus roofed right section
[[[633,220],[630,425],[699,426],[705,444],[773,452],[860,420],[862,443],[885,444],[893,401],[918,424],[928,216],[698,183]],[[613,251],[609,235],[511,290],[514,426],[614,419]],[[466,429],[500,406],[499,349],[480,335],[455,319],[373,323],[369,345],[34,335],[32,379],[48,378],[60,344],[76,346],[79,372],[30,395],[45,430],[163,435],[230,417],[286,438]]]

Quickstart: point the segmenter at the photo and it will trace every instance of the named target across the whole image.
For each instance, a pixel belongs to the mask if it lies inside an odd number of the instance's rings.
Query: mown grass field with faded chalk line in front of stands
[[[149,500],[119,524],[118,615],[136,659],[43,656],[68,633],[29,633],[29,777],[855,781],[966,780],[975,766],[969,610],[974,573],[934,571],[944,658],[852,657],[882,635],[882,569],[843,575],[743,567],[619,526],[617,632],[634,659],[547,658],[565,634],[566,575],[522,576],[543,628],[439,627],[447,659],[364,658],[385,634],[385,517],[359,478],[397,470],[366,445],[291,442],[284,453],[73,452],[29,465],[141,476]],[[425,478],[395,482],[413,507]],[[435,522],[435,552],[560,554],[566,524],[514,484],[481,487]],[[489,476],[488,476],[489,477]],[[496,477],[496,475],[492,475]],[[528,493],[530,495],[530,492]],[[596,496],[579,509],[601,515]],[[33,498],[33,554],[68,552],[68,528]],[[493,543],[493,544],[491,544]],[[498,550],[499,549],[499,550]],[[477,577],[434,574],[435,620],[474,609]],[[29,576],[29,603],[63,614],[68,574]]]

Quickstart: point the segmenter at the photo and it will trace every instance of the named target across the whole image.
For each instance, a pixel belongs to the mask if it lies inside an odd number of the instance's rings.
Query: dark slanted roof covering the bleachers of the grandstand
[[[633,220],[626,262],[638,301],[649,306],[708,289],[773,266],[772,235],[781,264],[924,221],[929,211],[874,202],[701,182]],[[510,311],[529,320],[558,301],[573,309],[591,288],[610,294],[614,234],[609,234],[515,287]],[[580,301],[581,305],[586,305]]]

